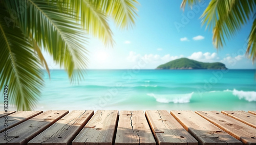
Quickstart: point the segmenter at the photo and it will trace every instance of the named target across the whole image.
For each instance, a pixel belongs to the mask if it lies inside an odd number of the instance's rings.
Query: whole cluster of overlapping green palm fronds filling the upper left
[[[67,70],[71,82],[81,80],[88,63],[86,35],[90,33],[105,44],[113,44],[108,17],[114,17],[122,28],[129,27],[137,15],[135,3],[135,0],[0,1],[3,47],[0,83],[1,87],[10,85],[11,103],[18,110],[34,107],[43,82],[40,66],[49,73],[42,50]]]

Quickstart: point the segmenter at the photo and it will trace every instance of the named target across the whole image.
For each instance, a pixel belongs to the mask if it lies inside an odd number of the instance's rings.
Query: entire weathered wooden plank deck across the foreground
[[[0,144],[256,145],[256,111],[0,111]]]

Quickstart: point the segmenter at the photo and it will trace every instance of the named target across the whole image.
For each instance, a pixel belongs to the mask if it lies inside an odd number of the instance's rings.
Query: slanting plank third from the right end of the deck
[[[196,111],[197,114],[207,119],[212,124],[221,128],[231,136],[239,139],[244,144],[256,144],[256,129],[239,122],[218,111]]]

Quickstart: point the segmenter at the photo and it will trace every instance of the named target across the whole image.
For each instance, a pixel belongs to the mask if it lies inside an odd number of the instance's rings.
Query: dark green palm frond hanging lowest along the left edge
[[[18,27],[8,27],[5,18],[10,15],[3,5],[0,8],[0,87],[8,85],[9,100],[17,110],[31,110],[43,86],[40,64],[30,40]]]

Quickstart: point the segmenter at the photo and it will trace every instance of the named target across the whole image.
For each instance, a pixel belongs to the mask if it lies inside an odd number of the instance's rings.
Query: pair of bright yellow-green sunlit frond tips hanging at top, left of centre
[[[105,44],[113,44],[112,31],[108,17],[111,16],[118,27],[132,27],[137,16],[138,4],[135,0],[64,0],[66,7],[72,8],[77,17],[81,16],[81,24],[89,34],[99,37]],[[95,27],[96,26],[96,27]]]

